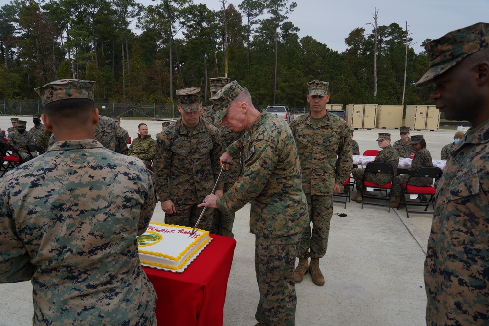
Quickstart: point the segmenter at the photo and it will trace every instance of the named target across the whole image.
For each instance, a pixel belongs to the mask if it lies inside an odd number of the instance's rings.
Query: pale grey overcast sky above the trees
[[[148,5],[158,1],[137,0]],[[10,0],[0,0],[0,5]],[[228,0],[237,9],[242,0]],[[289,0],[289,4],[292,1]],[[446,33],[472,25],[489,22],[489,0],[296,0],[297,8],[289,14],[289,21],[300,28],[299,36],[312,36],[329,48],[343,52],[345,38],[357,27],[365,27],[366,33],[372,31],[373,13],[378,10],[377,23],[390,25],[398,23],[408,29],[413,38],[416,53],[423,49],[422,42],[428,38],[436,39]],[[209,9],[219,10],[220,0],[194,0],[204,3]]]

